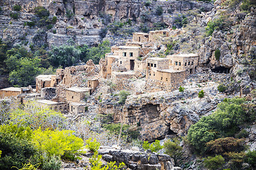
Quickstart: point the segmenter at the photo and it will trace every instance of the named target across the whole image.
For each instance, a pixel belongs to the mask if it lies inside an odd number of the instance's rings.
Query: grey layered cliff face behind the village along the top
[[[15,5],[21,6],[17,20],[10,17]],[[70,38],[73,38],[78,45],[95,45],[104,37],[102,37],[102,28],[108,29],[107,26],[114,21],[124,23],[130,19],[132,23],[129,27],[132,30],[129,30],[129,33],[132,33],[139,31],[141,24],[152,27],[154,23],[162,23],[171,27],[179,13],[196,8],[210,11],[213,8],[212,4],[193,1],[152,1],[149,6],[146,6],[144,0],[7,0],[1,1],[0,6],[2,9],[0,37],[3,40],[11,40],[14,43],[23,41],[26,45],[41,41],[40,43],[49,47],[62,45]],[[24,25],[36,18],[33,9],[37,6],[47,8],[51,17],[58,17],[57,23],[50,30],[42,30],[38,26],[30,28]],[[160,16],[156,14],[158,7],[163,9],[163,14]],[[68,17],[67,12],[75,15]],[[126,28],[123,29],[122,31],[125,32]],[[122,43],[122,38],[124,38],[122,35],[127,35],[123,32],[119,34],[121,38],[115,35],[116,38],[108,31],[107,39],[117,40],[116,45],[118,42]],[[38,34],[40,34],[40,40],[37,38]]]

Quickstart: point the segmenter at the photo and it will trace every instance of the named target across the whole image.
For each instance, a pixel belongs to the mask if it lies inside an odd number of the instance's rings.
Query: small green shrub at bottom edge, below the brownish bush
[[[215,157],[207,157],[204,162],[204,166],[210,170],[220,169],[225,164],[225,159],[221,155]]]

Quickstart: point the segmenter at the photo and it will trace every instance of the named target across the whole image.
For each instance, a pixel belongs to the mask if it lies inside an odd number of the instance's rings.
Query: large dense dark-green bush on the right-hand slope
[[[206,143],[218,137],[234,136],[243,123],[255,120],[255,111],[245,105],[244,98],[228,98],[212,115],[201,118],[188,130],[188,140],[199,151],[206,152]]]

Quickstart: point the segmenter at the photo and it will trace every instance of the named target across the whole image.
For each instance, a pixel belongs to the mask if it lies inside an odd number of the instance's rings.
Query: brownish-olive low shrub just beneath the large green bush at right
[[[223,154],[225,152],[240,152],[244,149],[243,140],[235,139],[234,137],[218,138],[206,143],[208,152],[213,154]]]

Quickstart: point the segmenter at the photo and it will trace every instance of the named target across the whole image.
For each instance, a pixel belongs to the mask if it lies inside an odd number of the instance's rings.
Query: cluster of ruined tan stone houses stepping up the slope
[[[91,61],[85,65],[57,69],[55,75],[36,77],[36,89],[9,87],[0,90],[0,98],[16,96],[21,102],[36,101],[38,106],[50,107],[63,113],[85,113],[87,106],[83,100],[97,88],[100,78],[122,81],[131,79],[136,74],[146,75],[146,81],[152,84],[167,84],[171,89],[180,86],[189,74],[196,72],[198,55],[167,55],[149,57],[149,52],[159,38],[169,37],[170,30],[156,30],[149,33],[133,33],[133,38],[124,46],[112,46],[105,55],[105,62],[100,62],[100,74],[87,79],[87,87],[70,86],[76,72],[93,73],[95,64]],[[104,66],[103,66],[104,65]],[[93,75],[91,75],[93,76]],[[62,84],[65,96],[56,95],[56,86]]]

